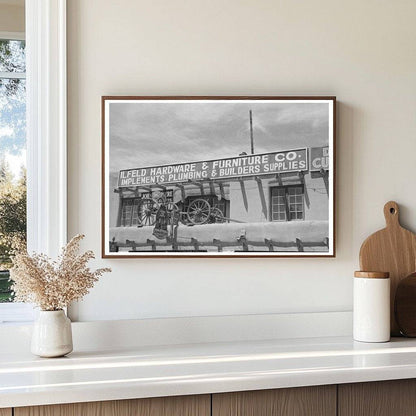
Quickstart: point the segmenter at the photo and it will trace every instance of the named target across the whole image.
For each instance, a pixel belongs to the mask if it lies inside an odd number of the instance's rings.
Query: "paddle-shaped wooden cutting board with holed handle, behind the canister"
[[[363,271],[390,273],[391,334],[397,336],[400,331],[394,317],[394,298],[400,280],[416,270],[416,235],[400,225],[396,202],[384,205],[384,217],[386,228],[370,235],[361,246],[360,268]]]

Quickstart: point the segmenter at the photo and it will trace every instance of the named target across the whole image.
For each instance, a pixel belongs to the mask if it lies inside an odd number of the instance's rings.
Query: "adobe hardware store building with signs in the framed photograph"
[[[111,250],[328,251],[328,173],[328,147],[121,170]]]

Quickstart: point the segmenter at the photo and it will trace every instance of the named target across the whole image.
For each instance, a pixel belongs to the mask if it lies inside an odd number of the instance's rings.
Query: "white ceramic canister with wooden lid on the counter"
[[[386,272],[354,273],[354,330],[361,342],[390,340],[390,278]]]

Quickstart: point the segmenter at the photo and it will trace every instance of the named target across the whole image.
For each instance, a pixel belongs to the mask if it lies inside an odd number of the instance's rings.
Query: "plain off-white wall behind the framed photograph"
[[[335,259],[97,260],[79,320],[351,309],[361,241],[416,229],[416,2],[69,0],[69,234],[100,253],[101,95],[336,95]]]

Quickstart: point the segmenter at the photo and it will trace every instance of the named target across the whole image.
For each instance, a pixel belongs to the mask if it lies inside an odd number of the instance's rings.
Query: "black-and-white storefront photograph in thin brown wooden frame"
[[[102,256],[334,257],[335,97],[102,97]]]

